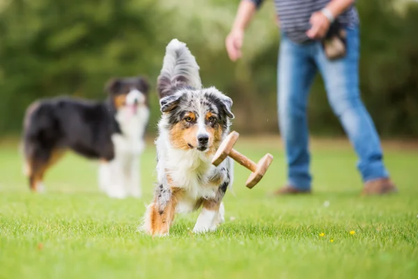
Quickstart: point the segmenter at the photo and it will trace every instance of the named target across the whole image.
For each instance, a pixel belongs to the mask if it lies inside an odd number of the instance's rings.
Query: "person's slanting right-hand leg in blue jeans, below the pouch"
[[[383,153],[373,120],[360,98],[358,32],[358,27],[347,29],[347,54],[343,59],[328,60],[317,43],[315,60],[332,110],[355,148],[359,157],[357,168],[367,183],[387,179],[389,173],[382,162]]]

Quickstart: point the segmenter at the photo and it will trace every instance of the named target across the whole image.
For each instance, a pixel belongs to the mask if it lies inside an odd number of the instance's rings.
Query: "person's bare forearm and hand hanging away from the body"
[[[225,40],[226,52],[228,52],[229,59],[232,61],[236,61],[241,57],[244,31],[262,2],[263,0],[242,0],[240,2],[231,32],[226,36]]]

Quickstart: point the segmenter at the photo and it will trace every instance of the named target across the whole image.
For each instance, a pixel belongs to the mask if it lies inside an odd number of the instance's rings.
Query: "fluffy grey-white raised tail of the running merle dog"
[[[157,79],[157,91],[160,98],[171,95],[179,86],[202,86],[199,65],[185,43],[171,40],[166,47],[166,54]]]

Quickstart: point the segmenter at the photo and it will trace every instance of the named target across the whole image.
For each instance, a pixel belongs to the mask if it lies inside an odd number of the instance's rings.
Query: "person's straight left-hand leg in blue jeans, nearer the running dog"
[[[282,35],[279,51],[279,128],[286,149],[287,183],[297,190],[311,188],[307,100],[316,74],[313,46],[298,45]]]

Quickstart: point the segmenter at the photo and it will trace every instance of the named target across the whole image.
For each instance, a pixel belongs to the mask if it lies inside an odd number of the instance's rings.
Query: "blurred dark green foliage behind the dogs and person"
[[[245,57],[232,63],[224,38],[238,1],[0,0],[0,136],[20,133],[24,110],[61,94],[103,99],[114,76],[147,75],[154,84],[171,38],[189,45],[204,85],[234,100],[240,133],[279,133],[276,63],[279,30],[265,1],[246,33]],[[383,137],[418,137],[418,3],[357,1],[362,98]],[[153,92],[150,133],[159,116]],[[318,77],[309,126],[343,135]]]

